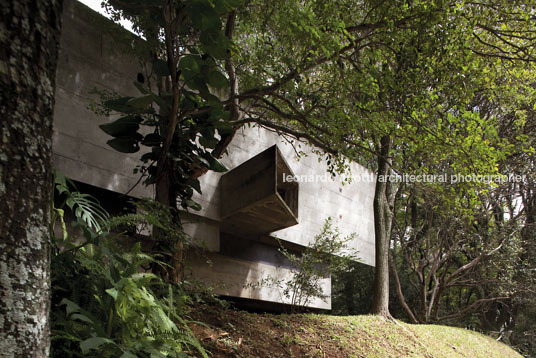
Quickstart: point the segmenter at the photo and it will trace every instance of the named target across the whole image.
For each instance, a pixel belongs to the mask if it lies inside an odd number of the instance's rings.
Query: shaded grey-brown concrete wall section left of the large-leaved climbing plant
[[[93,88],[138,95],[133,82],[141,66],[110,36],[118,27],[85,5],[65,1],[63,24],[56,73],[54,165],[74,180],[125,193],[138,179],[132,170],[141,154],[124,155],[110,148],[106,141],[111,137],[99,128],[108,120],[88,106],[92,99],[98,100],[90,94]],[[135,39],[123,35],[128,37]],[[130,195],[151,196],[152,190],[138,185]]]

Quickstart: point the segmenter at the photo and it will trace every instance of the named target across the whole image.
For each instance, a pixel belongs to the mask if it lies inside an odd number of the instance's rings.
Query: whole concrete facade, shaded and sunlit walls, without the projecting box
[[[133,169],[140,153],[125,155],[107,146],[109,139],[98,125],[107,119],[96,116],[88,105],[93,87],[108,89],[122,95],[137,95],[132,82],[143,72],[136,58],[119,51],[109,31],[117,31],[110,22],[80,3],[65,1],[63,33],[57,72],[54,122],[54,163],[66,176],[119,193],[127,192],[137,182]],[[133,37],[131,37],[131,41]],[[128,43],[128,42],[127,42]],[[127,46],[128,47],[128,46]],[[111,120],[111,119],[109,119]],[[328,177],[327,165],[304,143],[294,146],[306,156],[296,157],[293,145],[276,133],[250,127],[239,130],[221,162],[229,169],[249,160],[263,150],[277,145],[292,172],[298,177]],[[320,160],[319,160],[320,159]],[[362,166],[352,163],[354,177],[371,175]],[[233,239],[220,230],[221,173],[209,172],[200,178],[203,194],[194,200],[202,210],[185,214],[186,231],[204,242],[208,252],[193,257],[192,274],[214,286],[216,293],[263,301],[288,303],[281,292],[269,288],[246,287],[267,275],[280,278],[291,274],[277,253],[277,237],[295,248],[307,246],[320,232],[327,217],[332,217],[343,235],[356,234],[351,246],[362,262],[374,265],[373,182],[342,184],[335,181],[300,182],[298,224],[255,237]],[[152,196],[153,189],[138,185],[129,194]],[[205,262],[209,259],[212,265]],[[322,283],[324,293],[330,292],[330,278]],[[316,300],[312,307],[330,308],[331,302]]]

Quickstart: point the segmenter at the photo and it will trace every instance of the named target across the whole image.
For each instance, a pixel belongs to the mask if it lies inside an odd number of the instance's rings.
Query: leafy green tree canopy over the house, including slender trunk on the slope
[[[494,175],[515,153],[533,152],[523,134],[534,98],[530,2],[107,4],[151,48],[158,93],[144,87],[141,97],[119,101],[157,119],[145,124],[157,128],[158,141],[136,131],[129,140],[134,149],[152,146],[145,161],[164,203],[173,205],[179,187],[182,205],[195,206],[188,200],[196,178],[220,168],[215,161],[249,123],[308,141],[333,173],[354,160],[378,175]],[[434,210],[471,221],[490,189],[465,182],[418,190],[440,198]],[[397,190],[408,195],[390,182],[378,183],[375,195],[374,311],[386,315]]]

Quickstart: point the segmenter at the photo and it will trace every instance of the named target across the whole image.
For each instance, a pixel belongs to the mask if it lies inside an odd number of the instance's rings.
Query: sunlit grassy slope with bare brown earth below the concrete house
[[[213,357],[521,357],[460,328],[374,316],[270,315],[201,306],[192,330]]]

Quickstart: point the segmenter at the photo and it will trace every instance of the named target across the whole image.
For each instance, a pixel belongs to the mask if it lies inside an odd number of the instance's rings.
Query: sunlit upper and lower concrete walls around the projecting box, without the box
[[[262,128],[244,128],[235,136],[228,148],[229,155],[222,158],[222,163],[232,169],[250,159],[266,148],[277,144],[282,155],[288,162],[296,176],[315,176],[327,173],[327,164],[319,161],[306,144],[301,144],[301,150],[308,153],[306,157],[296,158],[295,150],[286,140],[273,132]],[[351,174],[354,178],[370,178],[372,174],[364,167],[352,163]],[[209,172],[201,177],[203,195],[196,195],[194,200],[201,203],[203,209],[200,216],[205,220],[220,220],[220,177],[222,174]],[[374,182],[358,182],[342,184],[341,178],[333,182],[300,182],[299,183],[298,220],[299,224],[272,233],[274,237],[307,246],[317,235],[326,218],[333,218],[341,235],[356,234],[349,247],[357,251],[360,260],[368,265],[374,265]],[[202,220],[202,219],[200,219]],[[202,235],[193,236],[199,240],[210,242],[211,239]],[[256,239],[256,238],[252,238]],[[275,241],[275,239],[274,239]],[[274,242],[275,245],[275,242]],[[266,255],[270,255],[276,246],[266,247]],[[218,294],[260,299],[270,302],[288,303],[280,290],[270,287],[248,287],[246,284],[258,282],[263,277],[274,276],[288,278],[290,271],[286,268],[270,264],[230,258],[222,255],[208,254],[212,266],[204,264],[203,260],[192,262],[192,271],[195,276],[214,287]],[[219,283],[214,285],[214,283]],[[331,292],[331,278],[322,282],[324,294]],[[314,299],[310,307],[330,309],[331,300],[327,302]]]

